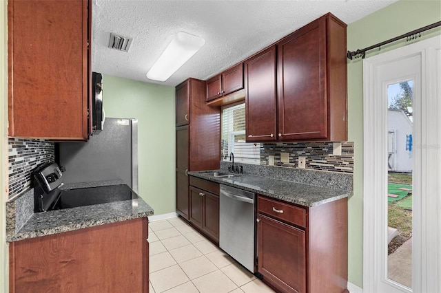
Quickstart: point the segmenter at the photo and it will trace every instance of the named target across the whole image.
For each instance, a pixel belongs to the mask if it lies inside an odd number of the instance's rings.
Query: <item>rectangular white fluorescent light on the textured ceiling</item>
[[[165,81],[205,44],[199,36],[178,32],[170,45],[147,72],[147,78]]]

